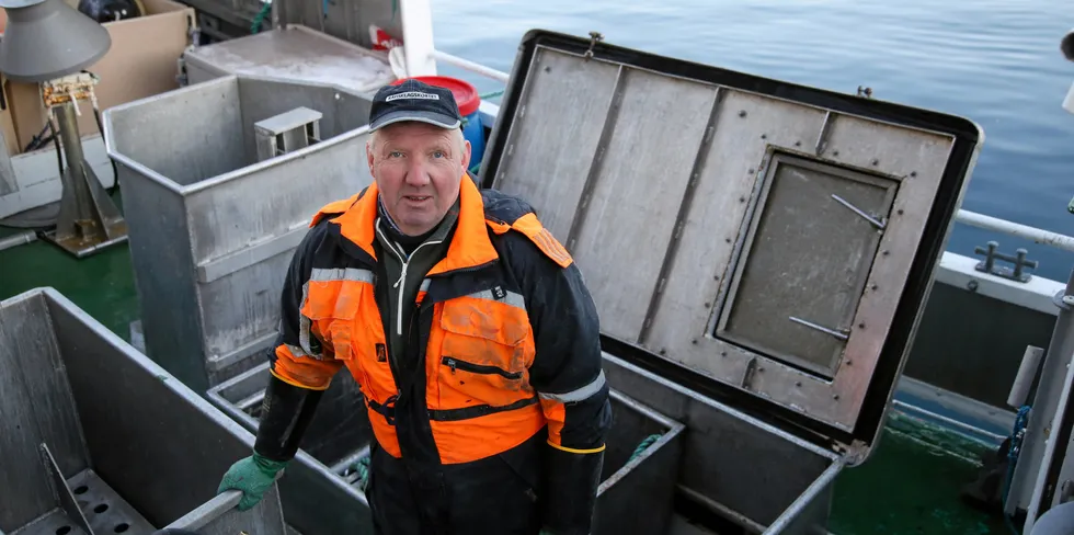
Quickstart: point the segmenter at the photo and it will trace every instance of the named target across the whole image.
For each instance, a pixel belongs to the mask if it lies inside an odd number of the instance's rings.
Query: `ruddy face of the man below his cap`
[[[410,236],[435,227],[459,193],[470,164],[470,143],[458,130],[419,122],[385,126],[366,145],[369,172],[377,181],[385,208]]]

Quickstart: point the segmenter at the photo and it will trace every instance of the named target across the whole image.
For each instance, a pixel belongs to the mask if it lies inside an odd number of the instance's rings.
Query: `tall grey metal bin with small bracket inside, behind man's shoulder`
[[[147,354],[195,391],[263,362],[310,217],[372,182],[369,101],[228,76],[112,107]]]

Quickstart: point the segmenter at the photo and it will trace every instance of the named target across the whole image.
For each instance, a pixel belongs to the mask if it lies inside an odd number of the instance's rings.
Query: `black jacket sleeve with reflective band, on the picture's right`
[[[602,368],[601,325],[578,265],[562,268],[536,248],[524,269],[536,343],[529,380],[548,421],[542,515],[556,535],[590,533],[612,426]]]

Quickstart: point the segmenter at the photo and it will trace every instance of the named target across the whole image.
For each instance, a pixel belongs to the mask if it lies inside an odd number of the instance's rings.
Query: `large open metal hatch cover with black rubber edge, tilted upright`
[[[483,185],[567,246],[606,337],[868,449],[975,124],[544,31],[503,102]]]

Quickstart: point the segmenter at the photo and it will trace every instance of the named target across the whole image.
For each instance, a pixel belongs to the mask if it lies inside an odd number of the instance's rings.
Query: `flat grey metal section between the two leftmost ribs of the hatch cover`
[[[638,340],[672,239],[716,88],[625,69],[618,118],[567,237],[601,314],[602,331]],[[575,91],[584,91],[579,86]],[[687,140],[688,141],[684,141]],[[511,189],[510,183],[504,187]]]

